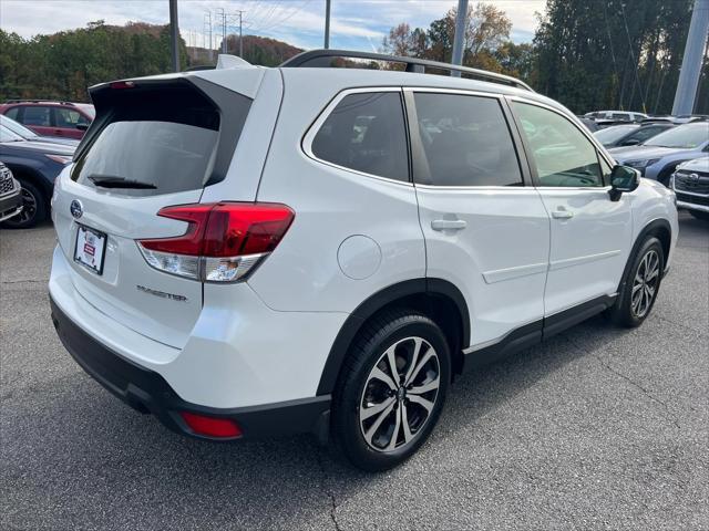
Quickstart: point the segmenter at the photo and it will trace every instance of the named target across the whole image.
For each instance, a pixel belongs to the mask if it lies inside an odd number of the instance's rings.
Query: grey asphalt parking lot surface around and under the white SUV
[[[644,326],[595,317],[464,376],[381,475],[306,436],[210,444],[127,408],[55,336],[52,227],[0,231],[0,528],[709,529],[709,226],[680,225]]]

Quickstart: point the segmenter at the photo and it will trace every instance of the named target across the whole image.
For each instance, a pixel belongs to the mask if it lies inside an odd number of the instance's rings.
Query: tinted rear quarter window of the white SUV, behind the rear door
[[[315,136],[312,154],[346,168],[409,180],[401,95],[377,92],[346,96]]]

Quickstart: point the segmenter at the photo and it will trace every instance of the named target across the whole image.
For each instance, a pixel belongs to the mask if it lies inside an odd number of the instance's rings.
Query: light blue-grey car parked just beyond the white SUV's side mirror
[[[618,164],[631,166],[643,176],[668,186],[680,163],[709,153],[709,122],[679,125],[641,146],[614,147],[609,153]]]

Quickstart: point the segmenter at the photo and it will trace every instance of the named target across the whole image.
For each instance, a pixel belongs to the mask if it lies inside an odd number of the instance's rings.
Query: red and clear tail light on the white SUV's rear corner
[[[138,240],[147,263],[204,282],[243,280],[276,249],[295,217],[289,207],[270,202],[178,205],[157,215],[186,221],[187,231]]]

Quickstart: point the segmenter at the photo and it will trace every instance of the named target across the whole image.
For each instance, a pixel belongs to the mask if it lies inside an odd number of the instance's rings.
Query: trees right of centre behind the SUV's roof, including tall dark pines
[[[693,0],[547,0],[532,43],[515,44],[505,12],[469,8],[463,64],[527,82],[576,113],[631,110],[670,113]],[[455,9],[429,28],[392,28],[387,53],[449,62]],[[709,114],[709,53],[696,113]]]

